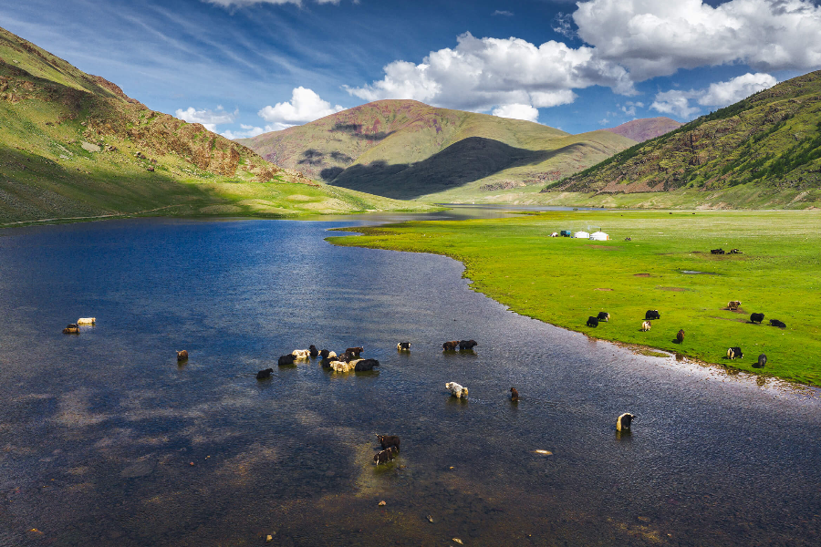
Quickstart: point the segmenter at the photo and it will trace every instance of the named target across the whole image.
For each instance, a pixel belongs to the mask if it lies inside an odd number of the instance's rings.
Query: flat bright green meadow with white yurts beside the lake
[[[517,313],[599,338],[821,386],[819,225],[817,212],[546,212],[359,228],[365,236],[331,241],[446,254],[465,264],[474,289]],[[613,241],[547,237],[598,227]],[[627,236],[631,242],[623,241]],[[710,254],[719,246],[743,254]],[[723,310],[730,300],[741,300],[744,313]],[[642,333],[648,309],[660,310],[661,319]],[[610,322],[587,327],[587,316],[598,311],[609,312]],[[781,319],[787,328],[749,324],[753,312]],[[680,328],[686,333],[681,346],[673,342]],[[743,359],[723,358],[728,346],[741,346]],[[759,353],[769,363],[753,369]]]

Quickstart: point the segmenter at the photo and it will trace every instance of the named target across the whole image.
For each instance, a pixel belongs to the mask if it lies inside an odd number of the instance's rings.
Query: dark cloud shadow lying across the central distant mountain
[[[462,139],[416,163],[389,164],[379,160],[348,169],[322,170],[323,180],[350,190],[365,191],[397,200],[413,200],[451,190],[514,167],[535,165],[557,155],[581,151],[585,143],[556,150],[518,149],[494,139]]]

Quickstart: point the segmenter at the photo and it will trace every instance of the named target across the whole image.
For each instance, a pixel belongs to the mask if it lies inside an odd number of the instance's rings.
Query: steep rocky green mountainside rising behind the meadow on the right
[[[821,201],[821,71],[759,91],[636,145],[545,191],[698,192],[717,207]]]

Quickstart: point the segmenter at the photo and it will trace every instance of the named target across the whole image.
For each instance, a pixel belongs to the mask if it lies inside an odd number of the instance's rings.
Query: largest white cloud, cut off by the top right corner
[[[744,63],[765,70],[821,67],[821,7],[810,0],[589,0],[573,14],[597,56],[633,81],[679,68]]]

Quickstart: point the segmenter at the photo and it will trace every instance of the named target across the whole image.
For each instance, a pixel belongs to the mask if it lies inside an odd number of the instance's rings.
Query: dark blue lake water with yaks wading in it
[[[818,390],[636,356],[507,311],[450,259],[323,241],[351,223],[0,232],[0,544],[821,540]],[[460,338],[479,346],[442,353]],[[382,365],[276,366],[310,344]],[[402,439],[379,468],[375,433]]]

